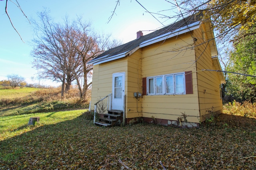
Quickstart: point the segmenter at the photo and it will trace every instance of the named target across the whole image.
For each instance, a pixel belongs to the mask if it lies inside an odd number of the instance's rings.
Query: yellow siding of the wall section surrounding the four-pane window
[[[199,123],[194,41],[183,34],[142,49],[142,77],[192,71],[193,94],[143,96],[143,117],[177,120],[188,115],[189,122]]]

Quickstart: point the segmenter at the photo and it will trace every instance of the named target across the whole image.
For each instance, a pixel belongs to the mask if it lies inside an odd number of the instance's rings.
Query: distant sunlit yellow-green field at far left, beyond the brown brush
[[[16,89],[1,89],[0,88],[0,99],[1,98],[20,98],[28,96],[31,92],[39,90],[38,88],[16,88]]]

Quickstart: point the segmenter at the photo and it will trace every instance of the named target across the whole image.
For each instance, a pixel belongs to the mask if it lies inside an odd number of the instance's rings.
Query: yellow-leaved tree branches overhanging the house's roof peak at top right
[[[256,22],[256,0],[189,0],[176,4],[181,13],[203,12],[205,19],[211,19],[217,31],[216,37],[237,41],[256,34],[251,27]],[[237,33],[239,36],[234,37]]]

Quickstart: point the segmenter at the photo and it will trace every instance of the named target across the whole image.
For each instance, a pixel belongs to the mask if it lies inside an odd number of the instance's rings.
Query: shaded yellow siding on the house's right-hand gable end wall
[[[203,69],[216,70],[214,67],[210,43],[206,41],[207,36],[203,34],[205,31],[204,25],[200,29],[194,30],[194,37],[198,39],[195,47],[196,51],[196,66],[198,77],[198,96],[200,106],[200,121],[204,121],[206,117],[210,116],[209,113],[222,112],[222,100],[220,98],[220,78],[217,72],[202,71]],[[205,39],[204,39],[205,38]]]

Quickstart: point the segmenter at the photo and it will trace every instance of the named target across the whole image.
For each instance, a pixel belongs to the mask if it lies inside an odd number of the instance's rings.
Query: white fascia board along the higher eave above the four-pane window
[[[200,21],[194,22],[194,23],[192,23],[192,24],[190,24],[190,25],[188,25],[186,27],[181,27],[181,28],[176,29],[176,30],[174,30],[172,32],[165,33],[165,34],[160,35],[158,37],[154,37],[152,39],[144,41],[144,42],[140,43],[140,48],[148,46],[148,45],[151,45],[151,44],[154,44],[154,43],[157,43],[159,41],[163,41],[165,39],[168,39],[168,38],[171,38],[171,37],[183,34],[183,33],[186,33],[188,31],[192,31],[194,29],[198,29],[199,27],[200,27]]]

